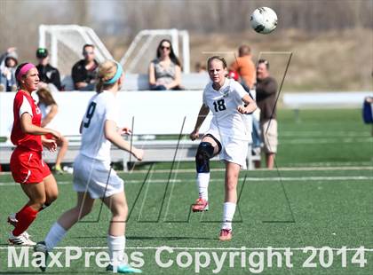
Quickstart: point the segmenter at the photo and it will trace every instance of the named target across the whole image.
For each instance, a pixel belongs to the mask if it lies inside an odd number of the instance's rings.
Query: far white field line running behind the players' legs
[[[239,180],[242,181],[244,177],[240,177]],[[333,180],[368,180],[372,179],[373,177],[366,177],[366,176],[352,176],[352,177],[246,177],[247,181],[250,182],[273,182],[273,181],[333,181]],[[140,184],[143,183],[143,180],[135,179],[135,180],[124,180],[124,183],[127,184]],[[162,184],[166,183],[166,179],[150,179],[147,182],[154,183],[154,184]],[[195,179],[171,179],[171,183],[191,183],[195,182]],[[224,182],[224,178],[211,178],[210,182]],[[72,185],[72,182],[61,181],[58,182],[59,185]],[[16,183],[0,183],[0,186],[12,186],[12,185],[19,185]]]

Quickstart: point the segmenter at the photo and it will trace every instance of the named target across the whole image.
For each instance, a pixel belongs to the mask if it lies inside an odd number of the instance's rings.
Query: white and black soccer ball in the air
[[[261,7],[251,14],[251,27],[259,34],[269,34],[277,27],[277,15],[274,10]]]

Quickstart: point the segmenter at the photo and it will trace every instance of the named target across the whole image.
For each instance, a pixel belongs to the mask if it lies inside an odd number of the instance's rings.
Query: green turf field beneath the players
[[[172,171],[171,163],[148,164],[120,173],[130,208],[126,234],[130,262],[140,263],[145,274],[373,274],[373,138],[361,122],[360,110],[302,110],[298,121],[291,111],[281,111],[279,130],[279,169],[241,173],[230,242],[218,241],[222,164],[213,163],[210,211],[203,215],[189,211],[196,198],[193,163],[175,163]],[[29,228],[33,240],[43,240],[56,218],[75,204],[72,177],[56,178],[60,197]],[[5,221],[23,206],[26,196],[8,174],[0,176],[0,194]],[[91,215],[68,232],[55,252],[71,246],[95,255],[106,251],[109,218],[97,201]],[[0,224],[0,273],[40,272],[7,266],[10,229],[5,222]],[[163,246],[171,250],[161,250]],[[318,250],[313,256],[306,247]],[[270,248],[282,256],[281,264],[279,255],[271,257]],[[292,253],[288,259],[286,251]],[[159,253],[164,265],[157,261]],[[83,257],[69,268],[53,266],[47,272],[107,273],[95,263],[95,255],[90,261]],[[64,259],[61,256],[63,265]],[[87,263],[90,266],[84,267]],[[165,267],[166,263],[171,266]],[[196,263],[201,263],[199,270]]]

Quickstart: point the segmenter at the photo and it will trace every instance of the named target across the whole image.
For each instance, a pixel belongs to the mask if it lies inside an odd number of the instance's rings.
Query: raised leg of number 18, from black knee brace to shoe
[[[210,159],[218,152],[219,145],[216,138],[210,135],[202,138],[195,154],[198,199],[192,207],[193,212],[207,211],[209,209]]]

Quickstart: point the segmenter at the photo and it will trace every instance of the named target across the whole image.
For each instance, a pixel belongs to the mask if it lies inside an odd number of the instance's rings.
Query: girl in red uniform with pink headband
[[[56,180],[42,160],[43,146],[55,151],[57,145],[54,139],[44,138],[43,135],[51,134],[53,138],[60,139],[60,133],[40,127],[42,114],[31,97],[39,83],[36,67],[31,63],[20,64],[15,76],[20,90],[13,103],[11,139],[16,148],[11,157],[11,170],[14,181],[20,184],[29,200],[18,213],[8,217],[8,223],[14,225],[9,242],[31,246],[35,242],[28,238],[28,226],[36,219],[37,213],[58,196]]]

